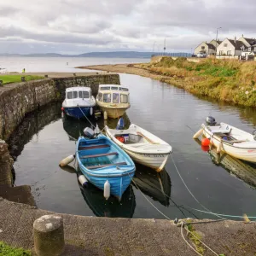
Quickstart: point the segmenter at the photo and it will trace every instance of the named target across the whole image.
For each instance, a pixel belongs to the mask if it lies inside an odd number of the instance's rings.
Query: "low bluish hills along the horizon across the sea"
[[[0,54],[4,56],[27,56],[27,57],[91,57],[91,58],[142,58],[148,59],[151,55],[162,55],[162,53],[152,53],[143,51],[107,51],[107,52],[88,52],[80,55],[61,55],[56,53],[45,54]],[[166,53],[166,55],[172,56],[189,56],[188,53]]]

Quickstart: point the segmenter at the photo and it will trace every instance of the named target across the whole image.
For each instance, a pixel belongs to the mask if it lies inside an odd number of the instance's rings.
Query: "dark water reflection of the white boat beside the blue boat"
[[[136,189],[138,187],[143,194],[150,196],[154,201],[159,201],[163,206],[170,205],[172,183],[165,169],[155,172],[151,168],[137,164],[132,184]]]

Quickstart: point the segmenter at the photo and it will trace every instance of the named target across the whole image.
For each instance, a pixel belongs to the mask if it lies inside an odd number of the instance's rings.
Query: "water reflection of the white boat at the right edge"
[[[224,152],[217,153],[216,148],[211,148],[208,153],[212,162],[217,166],[222,166],[226,171],[234,174],[245,183],[256,188],[256,165],[244,160],[239,160]]]

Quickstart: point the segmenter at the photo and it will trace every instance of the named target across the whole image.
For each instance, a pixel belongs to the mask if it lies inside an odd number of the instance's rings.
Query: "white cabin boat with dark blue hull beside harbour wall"
[[[89,87],[70,87],[66,89],[66,98],[62,110],[67,116],[84,119],[93,115],[96,100]]]

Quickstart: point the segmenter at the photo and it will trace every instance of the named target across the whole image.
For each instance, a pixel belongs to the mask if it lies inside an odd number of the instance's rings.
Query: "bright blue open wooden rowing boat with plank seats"
[[[76,159],[90,183],[99,189],[110,190],[110,195],[121,200],[136,169],[125,151],[101,134],[91,139],[79,137]],[[104,191],[104,196],[105,192],[108,194]]]

